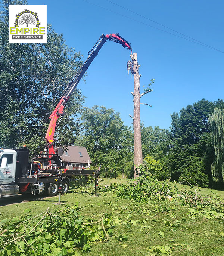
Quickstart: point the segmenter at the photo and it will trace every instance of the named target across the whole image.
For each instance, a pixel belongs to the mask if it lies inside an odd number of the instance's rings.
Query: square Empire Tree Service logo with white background
[[[47,43],[47,6],[9,5],[9,43]]]

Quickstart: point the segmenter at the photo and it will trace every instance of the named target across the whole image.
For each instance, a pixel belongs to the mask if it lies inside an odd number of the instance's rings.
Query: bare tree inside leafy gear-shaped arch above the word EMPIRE
[[[36,12],[25,9],[16,15],[15,27],[29,27],[29,25],[30,27],[39,27],[40,22]]]

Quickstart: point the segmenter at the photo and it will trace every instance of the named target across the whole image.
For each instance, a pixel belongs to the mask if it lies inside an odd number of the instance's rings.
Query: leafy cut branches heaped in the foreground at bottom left
[[[111,215],[98,221],[84,223],[78,207],[63,207],[60,211],[32,216],[31,210],[14,219],[0,222],[1,255],[80,255],[77,250],[88,252],[91,243],[106,242],[113,230]]]

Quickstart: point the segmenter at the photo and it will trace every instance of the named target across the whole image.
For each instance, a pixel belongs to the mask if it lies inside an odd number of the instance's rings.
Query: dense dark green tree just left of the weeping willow
[[[208,127],[209,114],[223,108],[223,100],[202,99],[171,115],[170,150],[161,160],[164,172],[173,180],[188,179],[192,185],[212,184],[214,149]]]

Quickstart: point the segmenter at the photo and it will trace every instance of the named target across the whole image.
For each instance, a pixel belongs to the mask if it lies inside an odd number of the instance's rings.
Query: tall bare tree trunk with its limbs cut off
[[[139,67],[137,53],[134,52],[131,55],[133,71],[134,71],[134,93],[132,92],[134,98],[134,116],[133,127],[134,127],[134,178],[139,176],[140,164],[143,164],[142,160],[142,147],[141,147],[141,121],[140,121],[140,82],[139,82]]]

